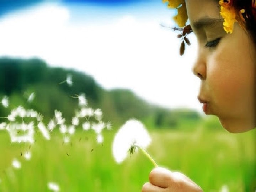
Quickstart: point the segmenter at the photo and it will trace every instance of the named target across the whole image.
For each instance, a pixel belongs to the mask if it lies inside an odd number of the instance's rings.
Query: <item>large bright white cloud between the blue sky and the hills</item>
[[[64,6],[43,5],[0,22],[0,53],[38,56],[52,65],[76,68],[103,87],[132,89],[166,107],[201,108],[199,81],[191,73],[196,41],[183,57],[177,33],[157,19],[124,15],[116,20],[73,25]]]

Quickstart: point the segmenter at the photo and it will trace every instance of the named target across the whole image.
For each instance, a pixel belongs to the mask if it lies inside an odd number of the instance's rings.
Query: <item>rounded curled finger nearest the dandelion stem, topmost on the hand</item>
[[[155,186],[167,188],[170,185],[171,171],[156,167],[149,174],[149,182]]]

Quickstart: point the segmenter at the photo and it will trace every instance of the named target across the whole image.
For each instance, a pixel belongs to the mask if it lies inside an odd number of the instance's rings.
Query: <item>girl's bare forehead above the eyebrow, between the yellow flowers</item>
[[[186,0],[186,6],[191,25],[205,17],[222,19],[217,0]]]

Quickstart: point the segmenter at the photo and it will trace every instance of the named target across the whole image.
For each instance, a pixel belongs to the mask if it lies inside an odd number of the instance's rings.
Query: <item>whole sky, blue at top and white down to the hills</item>
[[[179,32],[160,25],[175,27],[175,10],[161,0],[13,0],[0,7],[0,57],[38,57],[83,71],[107,90],[202,112],[191,70],[196,38],[188,36],[192,45],[181,57]]]

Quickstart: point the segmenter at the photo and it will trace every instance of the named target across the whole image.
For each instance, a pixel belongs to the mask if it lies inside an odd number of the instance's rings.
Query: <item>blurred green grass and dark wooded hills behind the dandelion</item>
[[[73,76],[73,86],[59,84],[67,74]],[[32,92],[36,97],[28,103]],[[229,191],[255,192],[255,130],[231,134],[214,116],[151,105],[129,90],[104,90],[79,71],[52,68],[36,58],[0,58],[0,98],[6,95],[10,103],[8,108],[0,107],[0,117],[21,105],[42,113],[45,123],[54,110],[71,121],[78,105],[70,96],[80,93],[85,93],[89,106],[101,108],[104,121],[113,124],[112,130],[103,132],[103,144],[97,144],[94,132],[82,129],[64,145],[57,129],[49,141],[37,134],[33,145],[11,144],[7,131],[0,130],[0,191],[49,191],[50,181],[69,192],[141,191],[153,169],[151,162],[136,153],[117,164],[111,152],[118,128],[137,118],[149,130],[153,141],[147,151],[160,166],[181,171],[204,191],[228,186]],[[23,156],[29,148],[32,157],[27,161]],[[21,169],[11,166],[14,158],[21,162]]]

